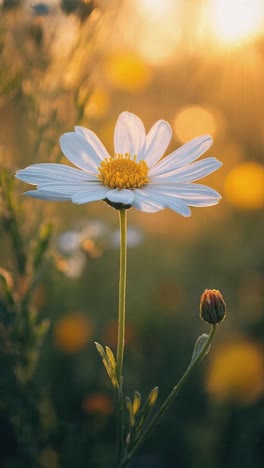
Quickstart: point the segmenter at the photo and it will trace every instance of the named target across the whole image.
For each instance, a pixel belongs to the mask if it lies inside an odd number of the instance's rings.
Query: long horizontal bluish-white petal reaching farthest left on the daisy
[[[45,182],[81,182],[83,180],[95,180],[87,172],[66,166],[65,164],[43,163],[33,164],[25,169],[17,171],[16,178],[32,185]]]

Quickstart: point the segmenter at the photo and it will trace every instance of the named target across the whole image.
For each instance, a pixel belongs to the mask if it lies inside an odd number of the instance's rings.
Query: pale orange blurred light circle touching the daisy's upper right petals
[[[209,110],[200,106],[190,106],[178,112],[174,121],[174,131],[179,140],[185,143],[203,134],[214,136],[216,123]]]

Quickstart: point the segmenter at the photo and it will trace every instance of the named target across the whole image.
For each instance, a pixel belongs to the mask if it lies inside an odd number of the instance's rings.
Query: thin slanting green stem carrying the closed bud
[[[145,431],[141,434],[141,437],[139,437],[138,441],[135,443],[134,447],[132,450],[128,453],[128,455],[125,457],[125,459],[121,462],[119,468],[125,468],[129,465],[131,459],[135,455],[136,451],[141,447],[143,442],[145,441],[146,437],[149,435],[149,433],[153,430],[154,426],[157,424],[157,422],[160,420],[160,418],[163,416],[163,414],[169,409],[173,401],[175,400],[176,396],[179,394],[180,390],[182,389],[183,385],[185,384],[186,380],[189,378],[192,370],[199,364],[199,362],[204,358],[204,356],[207,354],[208,350],[210,349],[210,346],[213,342],[215,332],[216,332],[217,325],[211,325],[211,331],[208,336],[208,339],[204,346],[202,347],[200,353],[197,355],[197,357],[190,363],[188,366],[187,370],[183,374],[182,378],[179,380],[179,382],[175,385],[175,387],[172,389],[171,393],[163,403],[163,405],[160,407],[159,411],[155,414],[149,425],[146,427]]]

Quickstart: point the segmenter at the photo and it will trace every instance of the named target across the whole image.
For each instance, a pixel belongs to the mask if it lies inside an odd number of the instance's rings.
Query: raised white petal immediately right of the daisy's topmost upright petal
[[[168,148],[172,137],[172,129],[165,120],[158,120],[146,136],[146,147],[142,159],[149,167],[153,166]]]

